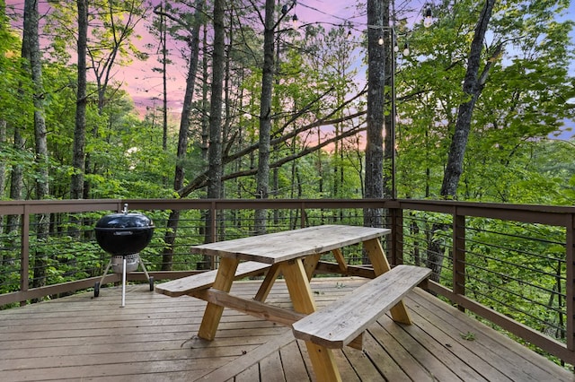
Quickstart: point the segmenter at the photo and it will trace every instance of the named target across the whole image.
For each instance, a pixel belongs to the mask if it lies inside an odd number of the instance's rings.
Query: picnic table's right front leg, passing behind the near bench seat
[[[289,296],[298,313],[313,313],[315,311],[314,294],[307,279],[305,266],[301,259],[282,263],[281,272],[286,279]],[[305,342],[309,358],[314,367],[315,378],[319,382],[341,381],[333,352],[315,343]]]

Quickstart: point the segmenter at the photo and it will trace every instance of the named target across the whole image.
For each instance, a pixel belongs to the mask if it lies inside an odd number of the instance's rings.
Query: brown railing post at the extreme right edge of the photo
[[[567,322],[565,323],[567,331],[566,333],[566,340],[567,340],[567,349],[571,352],[575,351],[575,338],[573,336],[575,333],[575,308],[573,304],[575,304],[575,274],[573,274],[575,266],[575,214],[570,213],[567,215],[567,221],[565,223],[565,305],[567,311]],[[571,362],[572,363],[572,362]]]

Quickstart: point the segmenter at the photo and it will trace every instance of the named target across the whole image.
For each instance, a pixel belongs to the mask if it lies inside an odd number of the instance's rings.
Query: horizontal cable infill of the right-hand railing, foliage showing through
[[[425,256],[440,255],[429,253],[429,243],[443,240],[441,248],[445,256],[438,256],[442,261],[440,284],[452,291],[457,285],[468,298],[566,343],[567,293],[561,288],[567,282],[564,229],[542,227],[538,223],[467,219],[464,237],[453,238],[463,242],[464,247],[454,248],[450,245],[454,235],[452,223],[438,232],[432,230],[437,215],[430,216],[431,219],[425,219],[420,213],[403,213],[404,262],[429,265]],[[489,229],[493,222],[501,230]],[[512,229],[503,231],[505,224]],[[458,253],[457,260],[452,256],[454,250]],[[561,251],[562,256],[558,253]],[[456,285],[454,261],[464,265],[463,282]],[[439,264],[434,265],[437,268]]]

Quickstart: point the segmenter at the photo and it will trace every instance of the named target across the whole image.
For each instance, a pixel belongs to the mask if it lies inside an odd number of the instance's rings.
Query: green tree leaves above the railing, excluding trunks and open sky
[[[118,5],[127,5],[119,2]],[[397,185],[400,197],[437,197],[449,150],[457,106],[465,100],[461,82],[465,71],[470,38],[480,4],[465,0],[458,4],[438,4],[436,23],[429,29],[416,24],[412,30],[398,22],[399,43],[409,41],[411,56],[398,55],[395,76],[398,100]],[[91,11],[95,11],[96,5]],[[567,67],[573,59],[569,37],[573,22],[558,22],[556,15],[568,2],[498,4],[491,22],[482,62],[493,66],[473,114],[472,133],[464,160],[459,199],[504,203],[572,204],[573,155],[571,143],[549,141],[548,137],[573,118],[573,108],[565,100],[575,95],[572,74]],[[121,7],[120,7],[121,8]],[[190,10],[170,4],[181,22],[169,25],[173,36],[186,39],[193,18]],[[75,65],[69,64],[69,48],[75,28],[73,4],[54,4],[46,26],[51,39],[49,59],[44,65],[46,121],[49,128],[50,189],[52,196],[66,198],[75,169],[71,167],[75,128]],[[144,8],[133,9],[141,16]],[[261,26],[249,12],[236,10],[242,18],[242,32],[235,33],[236,44],[229,51],[230,104],[240,110],[226,116],[227,153],[241,152],[258,142],[261,95]],[[92,12],[102,24],[93,30],[91,42],[110,42],[111,22],[118,13]],[[520,17],[518,16],[520,15]],[[57,16],[57,17],[56,17]],[[95,21],[96,19],[91,19]],[[10,171],[22,165],[24,182],[31,190],[36,169],[33,161],[31,90],[22,74],[17,33],[4,19],[0,33],[0,119],[8,123],[8,136],[18,126],[26,146],[15,149],[11,140],[2,145],[1,160]],[[125,31],[137,38],[134,30]],[[231,25],[230,28],[235,28]],[[236,32],[237,30],[234,30]],[[349,41],[349,26],[326,29],[308,25],[304,30],[278,30],[277,74],[273,97],[273,138],[288,135],[296,128],[313,124],[340,105],[357,90],[356,67],[361,47]],[[128,37],[128,36],[126,36]],[[503,47],[500,56],[493,56]],[[73,48],[73,47],[72,47]],[[125,62],[137,55],[133,46],[119,53]],[[93,51],[96,61],[111,49],[106,45]],[[238,75],[235,75],[238,74]],[[112,82],[110,82],[113,85]],[[118,84],[119,86],[119,84]],[[89,85],[87,146],[91,168],[86,169],[89,197],[172,197],[171,178],[175,162],[176,129],[168,132],[166,150],[163,132],[154,119],[137,116],[128,94],[111,90],[99,104],[95,83]],[[197,86],[197,91],[201,91]],[[200,93],[197,93],[200,95]],[[320,97],[320,94],[326,94]],[[207,163],[201,152],[202,102],[195,103],[186,181],[201,176]],[[345,117],[365,107],[364,100],[337,110],[329,117]],[[302,108],[305,112],[294,117]],[[313,127],[293,138],[280,140],[273,147],[273,161],[296,155],[314,144],[342,134],[355,125],[349,120],[332,126]],[[92,133],[92,134],[91,134]],[[270,194],[275,197],[361,197],[364,160],[361,137],[346,138],[320,152],[275,169]],[[257,167],[257,151],[226,164],[226,174]],[[386,167],[386,169],[389,166]],[[9,172],[8,172],[9,173]],[[253,197],[253,178],[234,178],[226,182],[227,197]],[[273,182],[273,184],[271,184]],[[29,192],[30,195],[31,192]],[[199,192],[198,195],[201,195]],[[5,197],[5,194],[3,195]]]

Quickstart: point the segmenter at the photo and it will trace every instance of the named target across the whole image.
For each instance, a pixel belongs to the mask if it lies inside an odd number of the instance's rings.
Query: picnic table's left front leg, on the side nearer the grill
[[[239,260],[229,257],[222,257],[217,269],[216,281],[212,288],[218,291],[230,291],[232,289],[232,282],[234,282],[234,274],[239,264]],[[212,341],[216,337],[217,326],[222,318],[224,307],[208,302],[208,306],[204,311],[204,317],[199,326],[198,336],[206,340]]]

